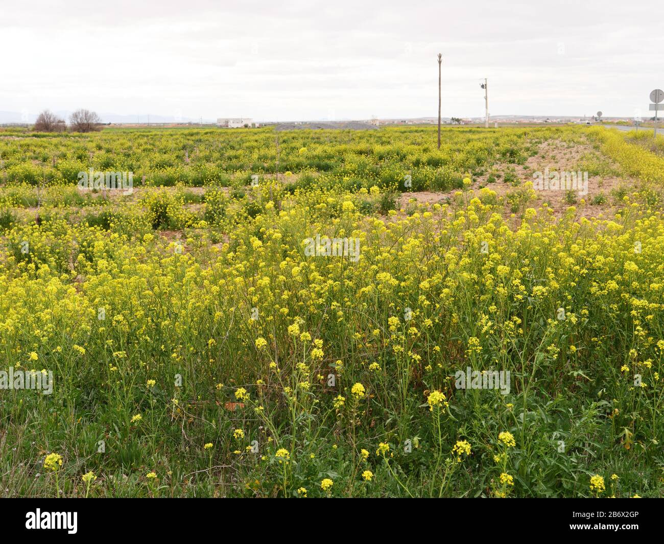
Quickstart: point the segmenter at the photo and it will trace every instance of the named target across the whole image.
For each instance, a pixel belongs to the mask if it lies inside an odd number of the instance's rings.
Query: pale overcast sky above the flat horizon
[[[643,0],[0,3],[0,110],[255,120],[647,114]],[[143,119],[141,119],[142,121]]]

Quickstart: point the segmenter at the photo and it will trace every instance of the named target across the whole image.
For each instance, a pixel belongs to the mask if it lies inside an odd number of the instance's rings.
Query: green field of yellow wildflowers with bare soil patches
[[[0,132],[3,496],[664,496],[641,134]]]

